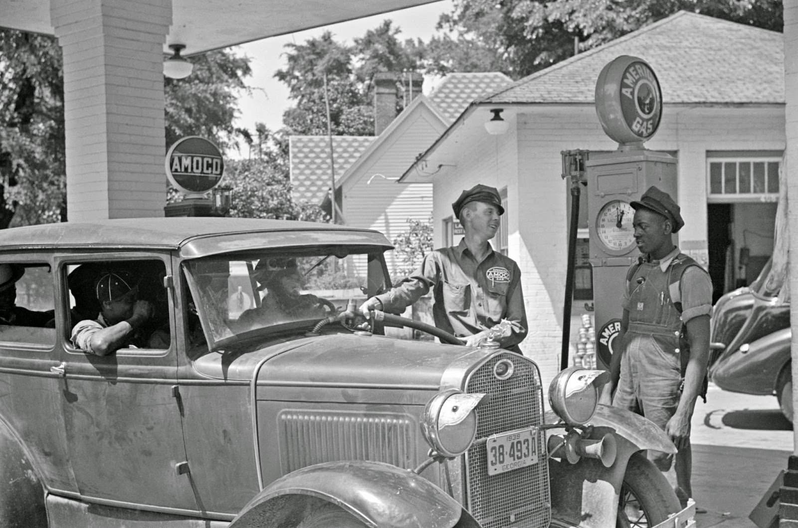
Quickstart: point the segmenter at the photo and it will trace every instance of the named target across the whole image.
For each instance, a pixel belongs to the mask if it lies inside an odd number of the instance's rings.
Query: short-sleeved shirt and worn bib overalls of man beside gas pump
[[[681,276],[682,310],[670,297],[674,249],[662,260],[644,261],[626,284],[622,307],[629,313],[621,376],[613,405],[641,412],[665,428],[678,406],[681,385],[679,335],[684,323],[712,312],[709,274],[689,266]]]

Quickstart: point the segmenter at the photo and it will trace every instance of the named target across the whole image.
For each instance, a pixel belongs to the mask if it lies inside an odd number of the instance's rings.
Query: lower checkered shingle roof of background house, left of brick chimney
[[[377,136],[333,136],[336,183]],[[327,136],[290,136],[290,175],[294,199],[322,203],[330,189],[330,140]]]

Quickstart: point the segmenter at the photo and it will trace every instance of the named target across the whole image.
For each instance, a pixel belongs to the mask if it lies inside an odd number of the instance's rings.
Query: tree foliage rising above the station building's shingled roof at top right
[[[679,10],[693,11],[767,30],[783,26],[780,0],[455,0],[438,28],[428,57],[437,69],[491,71],[524,77],[579,51],[657,22]],[[470,49],[465,55],[460,49]],[[445,59],[448,59],[445,60]]]

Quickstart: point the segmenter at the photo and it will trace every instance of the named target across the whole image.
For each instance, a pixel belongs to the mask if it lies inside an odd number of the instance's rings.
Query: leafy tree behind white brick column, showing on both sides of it
[[[0,228],[66,219],[61,57],[54,37],[0,29]],[[164,81],[166,144],[196,135],[234,146],[249,59],[214,51],[192,62],[190,77]]]

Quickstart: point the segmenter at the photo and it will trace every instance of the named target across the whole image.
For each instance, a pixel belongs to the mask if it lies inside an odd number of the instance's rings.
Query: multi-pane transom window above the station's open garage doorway
[[[780,164],[780,157],[709,158],[709,203],[775,202]]]

